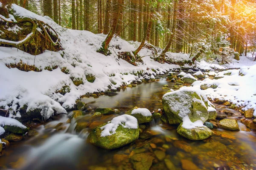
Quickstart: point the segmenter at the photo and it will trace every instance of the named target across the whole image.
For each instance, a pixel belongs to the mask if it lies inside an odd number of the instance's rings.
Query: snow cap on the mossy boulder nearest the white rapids
[[[100,128],[102,130],[101,136],[105,137],[105,136],[111,136],[115,134],[116,129],[119,125],[121,125],[124,128],[137,129],[138,121],[134,116],[131,116],[128,114],[114,117],[110,123]]]

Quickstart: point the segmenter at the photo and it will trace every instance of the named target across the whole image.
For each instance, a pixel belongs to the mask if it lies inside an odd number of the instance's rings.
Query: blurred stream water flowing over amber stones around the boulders
[[[117,108],[121,114],[134,106],[156,111],[162,108],[161,99],[173,82],[143,83],[134,88],[121,89],[116,96],[84,98],[89,109],[86,116],[67,122],[69,115],[58,115],[59,119],[33,130],[38,135],[12,142],[0,157],[0,169],[9,170],[212,170],[227,165],[233,170],[256,169],[256,131],[239,123],[240,131],[215,129],[215,135],[204,141],[190,141],[179,136],[175,126],[160,125],[154,120],[148,125],[151,136],[115,150],[104,150],[87,143],[87,136],[94,127],[108,122],[117,115],[91,119],[94,108]],[[227,117],[236,119],[238,111],[216,105],[217,111],[225,110]],[[71,113],[69,113],[71,114]],[[76,133],[76,122],[86,123],[86,129]],[[61,124],[60,124],[61,123]],[[56,125],[61,126],[57,129]],[[58,127],[59,127],[58,126]],[[134,155],[139,159],[134,159]],[[148,156],[155,159],[148,159]],[[140,167],[140,168],[138,168]]]

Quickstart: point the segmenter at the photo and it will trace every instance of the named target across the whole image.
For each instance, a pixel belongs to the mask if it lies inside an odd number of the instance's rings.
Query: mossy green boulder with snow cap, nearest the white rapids
[[[104,149],[114,149],[134,142],[139,138],[139,125],[134,116],[124,114],[111,122],[95,127],[87,140]]]

